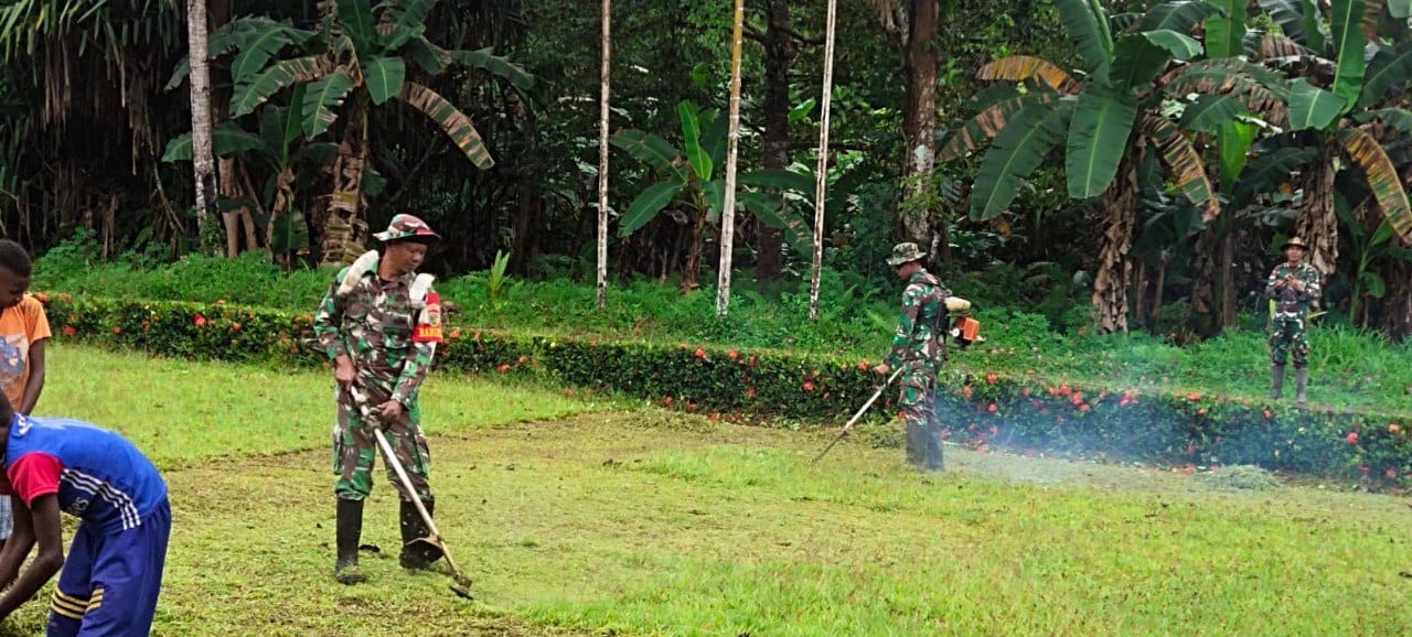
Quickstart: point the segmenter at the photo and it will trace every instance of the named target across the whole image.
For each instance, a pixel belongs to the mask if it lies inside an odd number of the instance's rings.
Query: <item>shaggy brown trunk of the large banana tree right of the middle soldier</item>
[[[1099,273],[1093,280],[1093,307],[1106,333],[1128,331],[1128,280],[1132,276],[1132,228],[1137,224],[1138,180],[1134,166],[1141,148],[1118,165],[1118,178],[1103,194],[1103,241]]]

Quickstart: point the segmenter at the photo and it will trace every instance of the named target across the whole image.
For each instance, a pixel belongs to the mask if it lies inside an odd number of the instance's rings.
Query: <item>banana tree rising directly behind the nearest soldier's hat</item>
[[[345,114],[342,141],[333,161],[333,193],[322,227],[322,261],[345,264],[363,251],[366,231],[364,176],[369,166],[369,109],[397,99],[429,117],[480,169],[494,165],[472,124],[446,97],[408,78],[408,62],[435,78],[460,65],[481,68],[517,87],[530,76],[503,58],[483,51],[448,51],[422,32],[435,0],[378,3],[329,0],[321,3],[318,35],[298,47],[299,56],[280,59],[284,42],[257,35],[237,44],[232,68],[236,82],[232,117],[254,113],[278,92],[295,85],[306,90],[299,104],[302,134],[318,138]],[[347,103],[347,106],[345,106]]]

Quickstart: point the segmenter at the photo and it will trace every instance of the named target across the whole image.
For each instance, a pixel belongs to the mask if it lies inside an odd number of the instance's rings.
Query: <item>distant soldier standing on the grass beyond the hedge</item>
[[[1315,266],[1305,264],[1309,247],[1300,238],[1292,238],[1281,247],[1289,259],[1275,266],[1265,283],[1265,296],[1275,302],[1275,314],[1269,331],[1271,368],[1269,397],[1278,399],[1285,386],[1285,364],[1295,358],[1295,382],[1298,395],[1295,404],[1308,406],[1305,388],[1309,385],[1309,306],[1320,296],[1320,275]]]

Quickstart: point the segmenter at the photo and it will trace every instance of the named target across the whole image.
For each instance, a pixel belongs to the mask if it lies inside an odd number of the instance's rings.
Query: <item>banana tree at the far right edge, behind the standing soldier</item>
[[[1412,80],[1412,42],[1384,41],[1385,7],[1380,0],[1332,0],[1327,16],[1320,4],[1302,0],[1260,4],[1282,32],[1265,34],[1257,55],[1296,78],[1289,96],[1289,130],[1317,151],[1302,169],[1295,233],[1310,242],[1310,262],[1329,276],[1339,261],[1334,189],[1340,165],[1358,166],[1394,234],[1412,240],[1412,207],[1388,155],[1387,138],[1374,123],[1406,120],[1406,111],[1398,107],[1380,107],[1399,103]],[[1409,13],[1406,1],[1389,3],[1388,10],[1398,20]],[[1339,161],[1340,155],[1348,163]]]

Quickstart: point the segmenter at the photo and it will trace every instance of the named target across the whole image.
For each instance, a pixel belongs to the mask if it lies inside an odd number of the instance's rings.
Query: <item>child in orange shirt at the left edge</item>
[[[0,240],[0,386],[16,413],[28,416],[44,390],[44,341],[49,318],[32,296],[30,254],[10,240]],[[13,527],[10,499],[0,497],[0,545]]]

